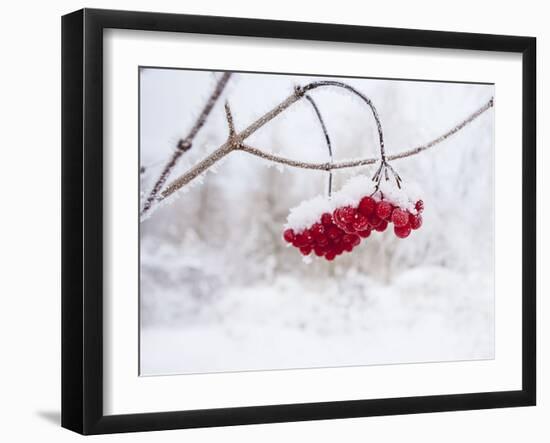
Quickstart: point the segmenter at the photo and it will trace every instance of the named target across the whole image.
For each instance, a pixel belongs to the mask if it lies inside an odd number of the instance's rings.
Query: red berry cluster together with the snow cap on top
[[[398,238],[406,238],[422,226],[424,210],[414,186],[408,188],[381,182],[377,190],[367,177],[353,177],[331,198],[317,196],[291,209],[283,239],[304,256],[332,261],[390,223]]]

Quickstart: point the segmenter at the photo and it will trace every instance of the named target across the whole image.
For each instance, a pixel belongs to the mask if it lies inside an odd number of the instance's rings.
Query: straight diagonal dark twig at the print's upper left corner
[[[166,183],[166,180],[170,176],[170,173],[172,172],[172,170],[176,166],[176,164],[177,164],[179,158],[181,157],[181,155],[184,152],[189,151],[189,149],[191,149],[191,147],[193,145],[193,139],[195,138],[195,136],[198,134],[200,129],[206,123],[206,119],[210,115],[210,112],[212,112],[212,109],[214,108],[214,105],[216,104],[216,102],[218,101],[218,98],[220,97],[223,90],[225,89],[225,86],[227,85],[227,82],[229,81],[231,75],[232,75],[231,72],[224,72],[223,73],[223,75],[218,80],[218,82],[216,84],[216,87],[214,88],[214,91],[212,92],[212,94],[208,98],[208,101],[204,105],[204,108],[203,108],[202,112],[200,113],[199,117],[197,118],[195,124],[191,127],[191,130],[187,134],[187,137],[185,137],[184,139],[181,139],[181,140],[178,141],[178,144],[176,146],[176,150],[172,154],[172,157],[170,158],[168,163],[166,163],[166,166],[164,167],[164,169],[163,169],[162,173],[160,174],[158,180],[156,181],[155,185],[151,189],[151,192],[149,193],[149,195],[147,197],[147,200],[145,201],[145,204],[143,205],[143,209],[141,211],[142,216],[144,214],[146,214],[147,211],[149,211],[151,209],[151,207],[153,206],[153,203],[157,199],[158,193],[160,192],[160,190],[164,186],[164,183]]]

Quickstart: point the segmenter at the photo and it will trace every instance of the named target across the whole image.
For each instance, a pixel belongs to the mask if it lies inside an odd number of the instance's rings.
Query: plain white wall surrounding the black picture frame
[[[420,29],[533,35],[538,37],[539,148],[548,103],[542,78],[548,72],[550,30],[544,3],[526,0],[481,3],[463,0],[357,2],[314,5],[279,0],[112,0],[5,2],[2,8],[0,117],[0,416],[2,440],[73,441],[82,437],[58,427],[60,397],[60,16],[83,6],[116,9],[351,23]],[[541,149],[542,150],[542,149]],[[7,156],[6,156],[7,154]],[[546,157],[547,159],[548,157]],[[539,158],[539,177],[543,162]],[[550,172],[548,160],[545,165]],[[548,195],[539,181],[540,195]],[[539,209],[548,222],[550,203]],[[548,264],[548,235],[542,233],[539,272]],[[544,262],[546,259],[546,262]],[[99,441],[548,441],[550,384],[544,322],[548,303],[539,286],[539,406],[536,408],[425,414],[224,429],[99,437]],[[546,347],[546,350],[544,349]]]

